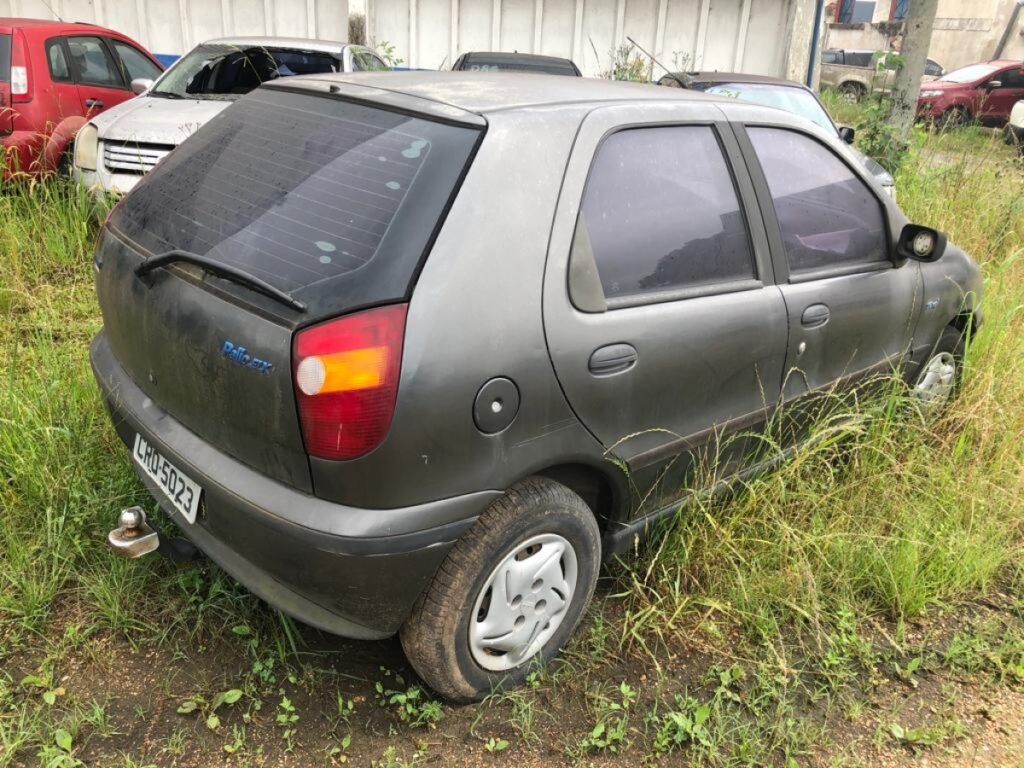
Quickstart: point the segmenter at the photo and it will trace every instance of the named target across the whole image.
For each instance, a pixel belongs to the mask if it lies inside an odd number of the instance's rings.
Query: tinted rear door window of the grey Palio
[[[607,138],[587,180],[574,248],[593,254],[612,306],[755,276],[732,176],[708,126]]]

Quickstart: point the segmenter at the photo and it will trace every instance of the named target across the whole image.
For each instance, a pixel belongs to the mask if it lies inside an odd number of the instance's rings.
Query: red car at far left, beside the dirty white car
[[[119,32],[87,24],[0,17],[3,178],[52,171],[93,115],[131,98],[131,81],[163,71]]]

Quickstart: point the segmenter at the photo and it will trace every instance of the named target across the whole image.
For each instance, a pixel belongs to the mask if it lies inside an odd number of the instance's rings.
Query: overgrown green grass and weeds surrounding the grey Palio
[[[984,266],[951,411],[894,392],[823,420],[609,568],[564,664],[466,708],[394,641],[298,626],[205,561],[108,553],[116,512],[155,505],[88,370],[93,208],[0,196],[0,768],[934,765],[986,738],[984,702],[1024,690],[1024,169],[972,129],[919,137],[898,186]]]

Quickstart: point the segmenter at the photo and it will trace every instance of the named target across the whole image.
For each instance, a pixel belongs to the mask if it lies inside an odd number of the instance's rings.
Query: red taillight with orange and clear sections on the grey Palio
[[[406,304],[371,309],[295,336],[295,397],[306,453],[355,459],[391,426],[398,391]]]

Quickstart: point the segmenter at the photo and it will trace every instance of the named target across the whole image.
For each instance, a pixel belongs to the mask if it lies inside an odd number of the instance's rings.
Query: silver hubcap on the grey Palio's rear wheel
[[[476,597],[469,650],[480,667],[504,672],[539,652],[561,625],[577,588],[572,545],[542,534],[517,545]]]

